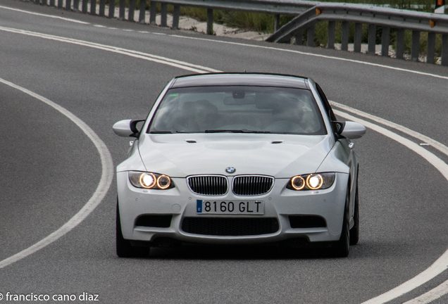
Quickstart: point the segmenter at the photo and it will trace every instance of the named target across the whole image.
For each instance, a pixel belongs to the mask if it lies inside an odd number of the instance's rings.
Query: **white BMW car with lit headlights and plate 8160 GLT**
[[[141,127],[137,127],[140,122]],[[214,73],[175,77],[117,167],[120,257],[182,243],[327,246],[359,240],[358,157],[366,132],[338,122],[306,77]]]

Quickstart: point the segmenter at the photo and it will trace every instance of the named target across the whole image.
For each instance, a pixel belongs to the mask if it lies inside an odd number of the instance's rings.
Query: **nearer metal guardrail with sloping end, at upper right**
[[[308,46],[314,45],[314,25],[319,21],[328,22],[328,48],[335,48],[335,23],[342,22],[341,49],[347,51],[349,42],[349,22],[354,23],[354,51],[361,51],[362,24],[368,24],[368,53],[375,54],[376,27],[382,27],[381,55],[388,56],[390,30],[397,29],[396,56],[404,55],[404,30],[412,30],[411,60],[418,61],[420,34],[428,32],[427,63],[434,63],[435,34],[442,34],[442,65],[448,65],[448,15],[421,13],[396,8],[382,8],[359,4],[318,4],[298,15],[287,25],[268,37],[268,42],[290,42],[296,37],[302,42],[302,34],[307,31]]]

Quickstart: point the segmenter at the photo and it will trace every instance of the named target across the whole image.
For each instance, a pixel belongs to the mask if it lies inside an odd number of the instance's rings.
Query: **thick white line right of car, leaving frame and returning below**
[[[356,112],[360,112],[360,111],[356,110]],[[360,118],[356,118],[352,115],[341,112],[340,110],[335,110],[335,114],[340,115],[341,117],[343,117],[347,120],[359,122],[360,124],[368,127],[369,129],[373,129],[376,132],[384,135],[385,137],[389,137],[390,139],[393,139],[394,141],[397,141],[400,144],[406,146],[407,148],[416,152],[419,156],[425,158],[425,160],[428,160],[428,162],[431,165],[433,165],[437,170],[439,170],[439,172],[442,173],[442,175],[448,181],[448,165],[446,163],[444,163],[443,160],[441,160],[440,158],[435,156],[433,153],[430,153],[430,151],[426,150],[425,148],[422,148],[418,144],[414,143],[413,141],[410,141],[409,139],[406,139],[406,138],[400,136],[399,134],[396,134],[388,129],[385,129],[383,127],[375,125],[372,122],[368,122],[367,120],[361,120]],[[373,116],[373,115],[371,115],[371,116]],[[373,118],[374,118],[374,116],[373,116]],[[390,124],[395,125],[392,122]],[[416,132],[413,132],[413,133],[416,133]],[[418,134],[418,133],[416,133],[416,135],[423,137],[423,135]],[[433,139],[431,139],[431,140],[434,141]],[[444,145],[440,144],[440,146],[444,146]],[[445,146],[445,148],[447,148],[447,147]],[[418,286],[425,284],[426,282],[430,281],[430,279],[437,277],[437,275],[441,274],[442,272],[444,272],[447,269],[448,269],[448,250],[445,251],[445,253],[442,256],[440,256],[440,258],[438,258],[433,263],[433,265],[428,267],[428,269],[424,270],[420,274],[417,274],[416,277],[413,277],[409,281],[405,281],[403,284],[395,287],[394,289],[387,291],[386,293],[382,293],[380,296],[377,296],[375,298],[371,298],[370,300],[367,300],[366,302],[363,302],[362,304],[387,303],[390,300],[393,300],[394,298],[398,298],[399,296],[402,296],[405,293],[408,293],[409,291],[416,289]]]

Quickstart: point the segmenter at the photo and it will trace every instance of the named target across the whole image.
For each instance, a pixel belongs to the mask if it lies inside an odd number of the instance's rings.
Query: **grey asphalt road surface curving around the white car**
[[[447,68],[209,37],[17,0],[0,5],[83,22],[0,7],[0,78],[85,122],[106,145],[114,166],[125,158],[128,141],[113,134],[113,123],[145,118],[163,86],[192,71],[106,46],[222,71],[312,77],[330,100],[448,145],[447,79],[431,76],[447,77]],[[1,265],[68,222],[94,195],[103,167],[94,142],[73,120],[4,82],[0,130]],[[447,251],[448,181],[417,153],[373,130],[355,145],[361,162],[361,239],[349,258],[276,247],[165,248],[152,251],[150,258],[117,258],[113,178],[104,199],[80,224],[0,268],[0,293],[75,295],[64,303],[81,303],[86,293],[97,294],[101,303],[362,303],[374,298]],[[448,160],[435,148],[424,148]],[[442,272],[390,303],[416,298],[447,279]],[[433,303],[447,301],[444,296]]]

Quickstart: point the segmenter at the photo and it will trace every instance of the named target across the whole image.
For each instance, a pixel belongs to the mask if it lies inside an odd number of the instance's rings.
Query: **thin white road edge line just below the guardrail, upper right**
[[[375,66],[375,67],[379,67],[379,68],[386,68],[386,69],[397,70],[397,71],[402,71],[402,72],[410,72],[410,73],[413,73],[413,74],[430,76],[430,77],[436,77],[436,78],[442,78],[444,80],[448,80],[447,76],[441,76],[441,75],[431,74],[431,73],[427,73],[427,72],[419,72],[419,71],[416,71],[416,70],[408,70],[408,69],[404,69],[404,68],[395,68],[395,67],[392,67],[392,66],[389,66],[389,65],[380,65],[378,63],[369,63],[369,62],[366,62],[366,61],[357,61],[357,60],[354,60],[354,59],[339,58],[339,57],[334,57],[334,56],[326,56],[326,55],[320,55],[320,54],[316,54],[316,53],[306,53],[306,52],[303,52],[303,51],[294,51],[294,50],[288,50],[288,49],[277,49],[277,48],[275,48],[273,46],[259,46],[259,45],[254,45],[254,44],[244,44],[244,43],[240,43],[240,42],[225,42],[225,41],[214,40],[214,39],[197,38],[197,37],[186,37],[186,36],[180,36],[180,35],[176,35],[176,34],[171,34],[170,37],[178,37],[178,38],[183,38],[183,39],[195,39],[195,40],[202,40],[202,41],[207,41],[207,42],[216,42],[216,43],[223,43],[223,44],[234,44],[234,45],[239,45],[239,46],[248,46],[248,47],[253,47],[253,48],[258,48],[258,49],[270,49],[270,50],[282,51],[282,52],[287,52],[287,53],[298,53],[298,54],[306,55],[306,56],[313,56],[313,57],[319,57],[319,58],[328,58],[328,59],[331,59],[331,60],[347,61],[347,62],[359,63],[359,64],[363,64],[363,65],[371,65],[371,66]]]

